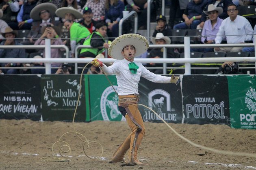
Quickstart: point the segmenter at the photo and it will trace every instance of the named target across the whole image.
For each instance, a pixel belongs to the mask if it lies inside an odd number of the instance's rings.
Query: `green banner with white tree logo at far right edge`
[[[256,79],[249,75],[227,76],[230,126],[256,129]]]

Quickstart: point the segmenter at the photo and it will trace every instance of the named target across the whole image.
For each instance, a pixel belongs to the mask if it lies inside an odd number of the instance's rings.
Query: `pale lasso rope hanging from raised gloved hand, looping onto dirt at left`
[[[82,135],[82,134],[76,132],[76,129],[75,129],[75,126],[74,126],[74,121],[75,121],[75,116],[76,116],[76,110],[77,110],[77,107],[78,107],[78,102],[79,102],[79,98],[80,98],[80,92],[81,92],[81,88],[82,88],[82,85],[81,85],[81,84],[82,84],[82,74],[83,74],[85,68],[86,68],[89,64],[91,64],[91,63],[88,63],[88,64],[85,65],[85,67],[83,68],[82,73],[81,73],[81,75],[80,75],[80,88],[79,88],[79,91],[78,91],[78,99],[77,99],[77,101],[76,101],[76,109],[75,109],[75,111],[74,111],[73,121],[72,121],[74,131],[72,131],[72,132],[66,132],[65,134],[75,133],[76,136],[77,136],[82,142],[84,142],[83,151],[84,151],[85,155],[86,155],[87,157],[89,157],[90,159],[99,159],[99,158],[102,156],[102,154],[103,154],[103,147],[102,147],[102,145],[101,145],[99,142],[96,142],[96,141],[91,141],[91,142],[90,142],[90,140],[88,140],[84,135]],[[105,74],[105,75],[106,75],[106,74]],[[60,161],[60,162],[71,161],[70,159],[67,159],[67,158],[59,158],[59,157],[56,157],[56,155],[54,154],[54,145],[55,145],[56,143],[59,144],[59,153],[60,153],[60,155],[61,155],[62,157],[68,157],[69,154],[71,153],[71,147],[70,147],[70,145],[69,145],[67,142],[61,140],[62,137],[65,136],[65,134],[61,135],[61,137],[59,138],[59,140],[56,141],[54,144],[52,144],[52,154],[54,155],[54,157],[42,157],[41,160],[44,160],[44,161]],[[80,136],[81,136],[82,138],[81,138]],[[63,144],[61,145],[61,143],[63,143]],[[86,147],[87,149],[89,148],[89,144],[91,144],[91,143],[97,143],[97,144],[99,144],[100,147],[101,147],[101,155],[98,156],[98,157],[91,157],[91,156],[87,155],[87,153],[85,152],[85,144],[86,144],[86,143],[87,143],[87,147]],[[64,153],[64,154],[67,153],[67,155],[63,155],[62,153]]]

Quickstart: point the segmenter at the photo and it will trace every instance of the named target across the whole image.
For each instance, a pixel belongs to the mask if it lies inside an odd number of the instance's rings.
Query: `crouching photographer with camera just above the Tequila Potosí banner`
[[[239,72],[239,64],[236,62],[224,62],[215,74],[243,74]]]

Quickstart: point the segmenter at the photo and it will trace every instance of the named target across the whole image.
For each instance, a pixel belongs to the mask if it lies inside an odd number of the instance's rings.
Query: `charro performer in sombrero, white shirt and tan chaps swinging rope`
[[[165,77],[147,70],[141,63],[133,62],[134,57],[148,49],[148,40],[139,34],[124,34],[117,37],[108,48],[108,55],[117,59],[112,66],[105,66],[100,60],[94,59],[91,64],[100,66],[106,75],[115,74],[118,84],[118,108],[131,128],[132,132],[119,145],[110,163],[124,161],[128,149],[127,165],[142,165],[137,159],[137,151],[145,134],[143,119],[137,107],[139,101],[138,84],[140,77],[156,83],[177,83],[179,77]]]

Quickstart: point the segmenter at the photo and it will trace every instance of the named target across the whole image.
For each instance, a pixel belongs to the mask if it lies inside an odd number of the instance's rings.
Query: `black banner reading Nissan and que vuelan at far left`
[[[0,82],[0,119],[40,120],[40,77],[0,75]]]

